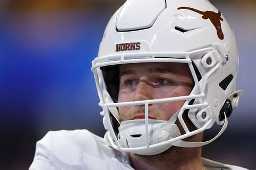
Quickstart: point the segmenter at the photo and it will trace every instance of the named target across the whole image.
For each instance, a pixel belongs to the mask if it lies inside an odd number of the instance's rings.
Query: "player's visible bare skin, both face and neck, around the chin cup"
[[[194,86],[188,65],[185,63],[136,63],[120,67],[118,102],[152,100],[189,95]],[[148,105],[151,119],[168,120],[185,101]],[[119,107],[120,122],[144,118],[144,106]],[[185,122],[189,122],[185,119]],[[176,122],[184,133],[179,122]],[[190,123],[191,124],[191,123]],[[192,127],[192,126],[189,126]],[[197,134],[190,141],[201,141]],[[130,153],[135,169],[204,169],[201,148],[171,147],[158,155],[142,156]]]

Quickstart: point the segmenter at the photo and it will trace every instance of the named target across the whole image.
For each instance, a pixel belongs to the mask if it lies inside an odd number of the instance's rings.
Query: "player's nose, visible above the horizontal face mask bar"
[[[153,99],[154,88],[146,79],[140,79],[135,90],[133,101]]]

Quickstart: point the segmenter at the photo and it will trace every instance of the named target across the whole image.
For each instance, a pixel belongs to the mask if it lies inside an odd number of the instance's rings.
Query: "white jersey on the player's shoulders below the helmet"
[[[245,168],[202,158],[208,170]],[[102,137],[88,130],[50,131],[36,143],[34,160],[29,170],[117,170],[134,169],[129,155],[109,147]]]

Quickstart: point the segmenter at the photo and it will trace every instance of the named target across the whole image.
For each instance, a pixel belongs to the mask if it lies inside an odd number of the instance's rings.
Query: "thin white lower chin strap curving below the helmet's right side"
[[[221,128],[220,132],[214,138],[212,138],[208,141],[204,141],[204,142],[190,142],[190,141],[178,140],[178,141],[172,142],[172,145],[174,145],[176,147],[195,148],[195,147],[202,147],[206,144],[209,144],[209,143],[215,141],[218,137],[220,137],[220,135],[227,128],[228,121],[227,121],[227,117],[226,117],[225,113],[224,113],[224,116],[225,116],[225,121],[224,121],[223,127]]]

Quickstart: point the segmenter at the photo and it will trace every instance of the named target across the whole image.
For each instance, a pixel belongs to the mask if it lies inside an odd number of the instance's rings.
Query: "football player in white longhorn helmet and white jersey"
[[[92,62],[104,138],[49,132],[33,169],[245,169],[201,157],[227,127],[237,90],[236,38],[206,0],[127,0]],[[222,126],[212,139],[203,132]]]

